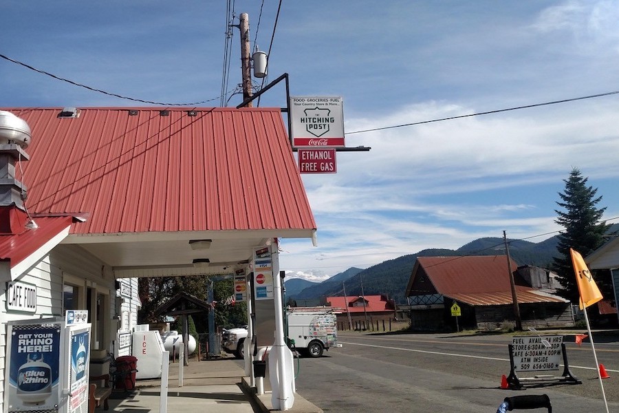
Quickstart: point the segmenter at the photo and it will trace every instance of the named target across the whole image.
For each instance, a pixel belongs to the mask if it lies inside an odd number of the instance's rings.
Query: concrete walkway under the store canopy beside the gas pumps
[[[138,369],[140,366],[138,366]],[[234,359],[220,358],[206,361],[190,361],[184,367],[183,385],[179,385],[179,364],[171,363],[168,380],[166,412],[169,413],[253,413],[275,412],[272,410],[271,394],[258,396],[250,388],[249,378]],[[268,377],[265,377],[268,389]],[[130,392],[114,390],[109,399],[111,412],[151,413],[161,412],[161,380],[138,380]],[[99,412],[101,410],[101,412]],[[294,395],[292,413],[322,413],[323,411]],[[98,407],[96,413],[102,413]]]

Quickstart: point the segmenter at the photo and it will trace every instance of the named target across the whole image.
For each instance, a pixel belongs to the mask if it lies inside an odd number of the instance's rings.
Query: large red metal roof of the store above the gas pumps
[[[316,229],[279,108],[2,110],[32,130],[28,209],[88,213],[72,233]]]

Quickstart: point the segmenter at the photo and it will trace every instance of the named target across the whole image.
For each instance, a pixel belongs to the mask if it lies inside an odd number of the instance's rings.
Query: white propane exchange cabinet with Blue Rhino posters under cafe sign
[[[9,321],[3,413],[87,413],[90,324],[65,318]]]

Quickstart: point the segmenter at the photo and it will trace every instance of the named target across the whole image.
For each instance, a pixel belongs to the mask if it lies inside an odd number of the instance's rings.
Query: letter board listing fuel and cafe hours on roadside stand
[[[512,338],[514,370],[521,372],[558,370],[563,336],[527,336]]]

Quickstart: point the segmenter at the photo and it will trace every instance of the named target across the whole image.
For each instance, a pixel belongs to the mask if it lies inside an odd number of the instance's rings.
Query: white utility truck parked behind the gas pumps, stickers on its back
[[[341,347],[338,343],[336,315],[331,308],[289,308],[287,332],[291,347],[309,357],[321,357],[324,350]],[[230,328],[221,335],[221,347],[229,354],[243,358],[247,326]]]

